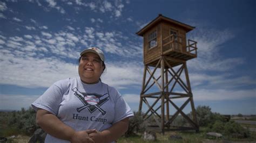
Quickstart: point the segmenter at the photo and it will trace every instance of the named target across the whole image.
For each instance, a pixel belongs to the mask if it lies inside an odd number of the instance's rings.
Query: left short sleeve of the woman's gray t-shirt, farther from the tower
[[[47,110],[54,115],[58,114],[59,104],[62,102],[63,91],[57,85],[53,84],[49,87],[42,96],[33,102],[32,108],[38,110],[38,108]]]

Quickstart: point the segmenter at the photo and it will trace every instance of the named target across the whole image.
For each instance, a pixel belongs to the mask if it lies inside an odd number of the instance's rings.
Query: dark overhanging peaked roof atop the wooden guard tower
[[[168,18],[168,17],[165,17],[165,16],[159,14],[157,18],[155,18],[154,20],[152,20],[152,22],[150,22],[149,24],[144,26],[136,34],[140,35],[140,36],[143,36],[143,34],[147,30],[149,30],[151,27],[153,27],[154,25],[156,25],[157,23],[159,23],[161,21],[164,21],[164,22],[167,22],[167,23],[172,23],[172,24],[175,24],[175,25],[179,25],[179,26],[183,27],[186,32],[189,32],[189,31],[193,30],[194,28],[196,28],[196,27],[193,27],[193,26],[190,26],[190,25],[178,22],[177,20],[174,20],[174,19],[171,19],[171,18]]]

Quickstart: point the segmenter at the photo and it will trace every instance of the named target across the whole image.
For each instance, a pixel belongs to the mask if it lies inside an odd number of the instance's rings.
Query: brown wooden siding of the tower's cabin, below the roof
[[[171,35],[171,30],[176,31],[177,36]],[[157,31],[157,46],[149,48],[149,34],[153,31]],[[190,51],[187,51],[186,30],[182,26],[162,21],[149,28],[149,30],[144,33],[143,37],[144,64],[146,65],[155,66],[156,60],[162,55],[185,61],[197,57],[197,54],[193,55]],[[189,47],[194,48],[192,46]],[[196,51],[197,48],[194,49]],[[169,62],[171,63],[171,61]],[[176,63],[171,65],[176,66]]]

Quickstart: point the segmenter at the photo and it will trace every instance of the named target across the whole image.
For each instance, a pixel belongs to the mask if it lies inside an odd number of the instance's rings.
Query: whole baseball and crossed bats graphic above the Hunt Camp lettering
[[[75,92],[74,95],[84,104],[83,106],[77,108],[77,112],[81,112],[87,108],[90,113],[99,110],[102,115],[105,115],[106,111],[100,108],[100,106],[109,100],[108,93],[104,95],[99,95],[96,93],[85,93],[80,92],[77,88],[72,89],[72,91]]]

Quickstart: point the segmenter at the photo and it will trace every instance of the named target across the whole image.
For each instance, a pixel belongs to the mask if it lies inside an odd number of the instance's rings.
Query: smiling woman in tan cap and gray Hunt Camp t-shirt
[[[119,92],[101,82],[104,53],[80,53],[77,78],[61,80],[35,102],[36,122],[48,133],[45,142],[112,142],[123,135],[133,113]]]

